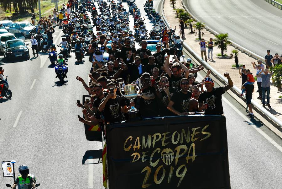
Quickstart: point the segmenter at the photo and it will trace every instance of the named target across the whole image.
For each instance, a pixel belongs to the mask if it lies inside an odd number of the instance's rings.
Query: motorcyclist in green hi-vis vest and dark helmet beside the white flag
[[[29,167],[27,165],[20,165],[18,167],[18,172],[21,174],[19,175],[12,188],[18,189],[31,189],[31,187],[35,188],[36,178],[34,175],[29,174]]]

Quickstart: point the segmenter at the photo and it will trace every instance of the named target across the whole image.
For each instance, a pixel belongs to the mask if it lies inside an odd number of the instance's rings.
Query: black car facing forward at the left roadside
[[[21,39],[7,40],[3,46],[5,58],[26,57],[29,59],[29,48]]]

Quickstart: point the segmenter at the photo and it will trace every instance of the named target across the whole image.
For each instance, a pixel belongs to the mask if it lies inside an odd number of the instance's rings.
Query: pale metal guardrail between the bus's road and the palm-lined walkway
[[[170,27],[169,22],[167,21],[165,14],[164,14],[164,0],[161,0],[162,2],[162,9],[161,9],[161,14],[163,17],[163,20],[165,21],[165,24],[167,26]],[[186,9],[186,8],[185,8]],[[187,9],[186,9],[187,10]],[[190,14],[190,13],[189,13]],[[210,69],[215,75],[217,75],[217,77],[219,77],[220,79],[222,79],[222,81],[224,81],[225,83],[228,83],[227,78],[225,78],[223,75],[221,75],[220,73],[218,73],[211,65],[209,65],[205,60],[203,60],[193,49],[191,49],[190,46],[188,46],[185,42],[183,42],[183,46],[185,49],[187,49],[188,51],[191,52],[191,54],[193,56],[195,56],[198,60],[201,60],[201,64],[205,65],[208,69]],[[248,50],[246,50],[248,51]],[[236,87],[235,85],[233,85],[232,87],[236,92],[238,92],[238,94],[241,94],[241,89],[239,89],[238,87]],[[262,106],[260,104],[258,104],[257,102],[255,102],[254,100],[251,101],[251,103],[257,108],[259,109],[261,112],[264,113],[264,115],[268,116],[273,122],[275,122],[277,125],[279,125],[280,127],[282,127],[282,122],[277,119],[275,116],[273,116],[271,113],[269,113],[269,111],[265,110],[264,108],[262,108]]]

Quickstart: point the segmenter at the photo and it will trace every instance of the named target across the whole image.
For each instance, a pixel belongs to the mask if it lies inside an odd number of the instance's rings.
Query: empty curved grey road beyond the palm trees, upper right
[[[282,11],[264,0],[184,0],[197,19],[237,44],[264,57],[282,54]]]

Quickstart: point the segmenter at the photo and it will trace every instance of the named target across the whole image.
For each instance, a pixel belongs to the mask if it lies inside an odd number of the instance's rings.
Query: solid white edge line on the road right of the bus
[[[250,123],[250,125],[261,134],[266,140],[268,140],[273,146],[275,146],[280,152],[282,152],[282,147],[276,143],[272,138],[270,138],[265,132],[263,132],[259,127],[257,127],[253,122],[251,122],[246,115],[244,115],[241,111],[239,111],[234,105],[232,105],[225,97],[222,96],[222,99],[233,109],[235,110],[241,117],[243,117],[246,122]]]

